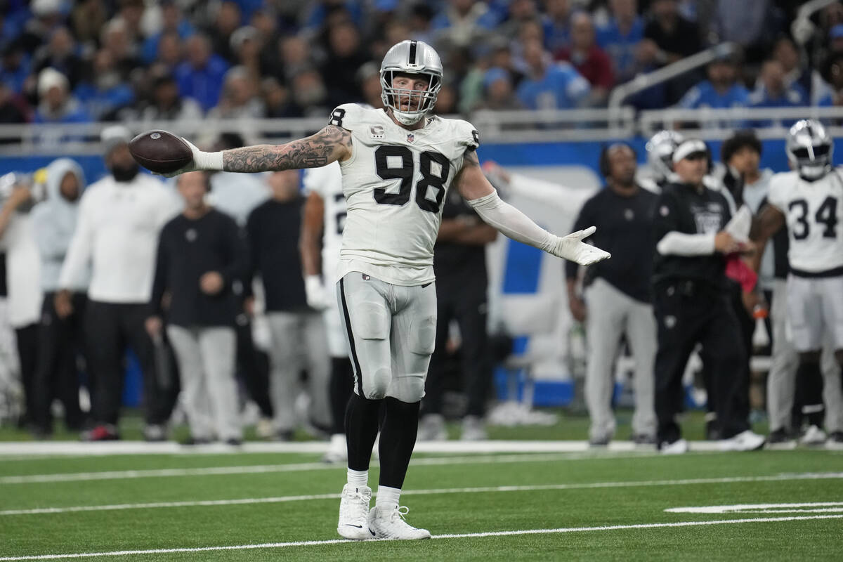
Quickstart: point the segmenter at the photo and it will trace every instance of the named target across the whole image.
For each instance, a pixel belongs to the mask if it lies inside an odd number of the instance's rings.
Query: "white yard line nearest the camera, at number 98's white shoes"
[[[431,538],[484,538],[484,537],[512,537],[518,535],[540,535],[552,533],[593,533],[599,531],[622,531],[626,529],[659,529],[667,527],[706,527],[711,525],[737,525],[741,523],[774,523],[791,521],[809,521],[812,519],[840,519],[843,515],[809,515],[803,517],[753,517],[751,519],[723,519],[720,521],[681,521],[674,523],[639,523],[636,525],[611,525],[606,527],[559,527],[556,529],[524,529],[522,531],[494,531],[489,533],[461,533],[447,535],[433,535]],[[228,546],[207,546],[193,549],[146,549],[146,550],[113,550],[110,552],[86,552],[78,554],[40,554],[35,556],[5,556],[0,562],[12,560],[57,560],[72,558],[95,558],[102,556],[131,556],[137,554],[171,554],[183,552],[211,552],[220,550],[253,550],[253,549],[283,549],[288,547],[320,546],[324,544],[353,543],[340,539],[324,541],[297,541],[292,543],[261,543],[239,544]]]

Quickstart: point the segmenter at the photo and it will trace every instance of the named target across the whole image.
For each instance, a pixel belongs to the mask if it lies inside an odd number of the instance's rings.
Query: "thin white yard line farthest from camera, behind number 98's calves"
[[[597,458],[647,458],[657,456],[656,452],[633,453],[629,455],[606,455],[588,452],[584,454],[550,453],[518,454],[470,457],[421,457],[411,461],[412,466],[438,466],[448,464],[490,464],[490,463],[545,463],[552,461],[577,461]],[[373,463],[377,466],[377,463]],[[345,470],[344,464],[288,463],[255,464],[229,467],[202,468],[155,468],[149,470],[107,470],[83,473],[21,474],[0,476],[0,484],[43,484],[46,482],[77,482],[81,480],[116,480],[136,478],[172,478],[179,476],[215,476],[221,474],[266,474],[280,472],[309,472],[312,470]]]

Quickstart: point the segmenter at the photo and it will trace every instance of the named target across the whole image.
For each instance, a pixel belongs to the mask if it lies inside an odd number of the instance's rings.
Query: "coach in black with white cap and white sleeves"
[[[749,431],[745,361],[738,319],[728,297],[726,255],[742,249],[725,227],[728,202],[702,183],[708,169],[705,142],[688,140],[674,152],[677,183],[665,186],[654,219],[653,311],[658,324],[656,415],[658,448],[688,450],[676,415],[682,408],[682,375],[697,343],[711,358],[717,419],[723,450],[746,451],[764,445]]]

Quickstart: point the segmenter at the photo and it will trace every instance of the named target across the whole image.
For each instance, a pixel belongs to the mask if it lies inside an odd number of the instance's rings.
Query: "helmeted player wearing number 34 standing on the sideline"
[[[752,233],[763,251],[787,224],[787,313],[799,352],[797,394],[801,388],[808,431],[815,434],[823,420],[819,358],[824,340],[831,341],[843,365],[843,225],[838,218],[843,217],[843,174],[832,166],[833,148],[818,121],[801,120],[791,127],[786,150],[792,171],[771,179],[767,205]]]

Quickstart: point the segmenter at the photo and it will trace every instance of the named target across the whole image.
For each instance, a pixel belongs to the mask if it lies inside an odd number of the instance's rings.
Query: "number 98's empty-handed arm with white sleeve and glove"
[[[547,232],[523,212],[502,201],[483,175],[480,161],[474,151],[465,154],[463,168],[459,171],[456,182],[460,195],[474,207],[486,224],[497,228],[517,242],[543,249],[565,260],[576,261],[580,265],[590,265],[610,257],[610,254],[602,249],[583,244],[583,238],[587,238],[596,230],[594,227],[559,237]]]

